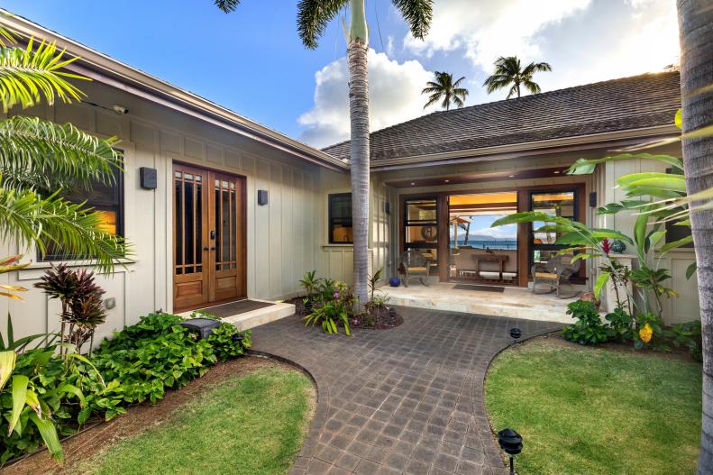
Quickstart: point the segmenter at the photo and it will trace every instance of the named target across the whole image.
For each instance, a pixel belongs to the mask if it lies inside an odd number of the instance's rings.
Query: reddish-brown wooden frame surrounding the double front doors
[[[236,199],[238,200],[238,203],[236,204],[239,206],[239,208],[236,208],[236,211],[240,212],[241,218],[237,220],[235,223],[238,227],[236,231],[236,237],[240,237],[240,244],[236,243],[236,258],[238,258],[238,262],[236,264],[238,272],[242,275],[242,279],[240,279],[240,287],[238,288],[238,296],[233,297],[233,298],[227,298],[223,300],[216,300],[213,302],[205,302],[203,304],[197,305],[197,306],[184,306],[184,307],[175,307],[175,297],[173,297],[173,288],[174,288],[174,279],[176,278],[176,273],[175,273],[175,266],[176,266],[176,230],[173,230],[173,237],[172,237],[172,242],[173,242],[173,250],[171,251],[170,255],[172,258],[171,262],[171,296],[172,296],[172,302],[174,305],[174,312],[185,312],[187,310],[195,310],[197,308],[202,308],[206,306],[215,306],[219,304],[224,304],[227,302],[234,302],[237,300],[244,300],[245,298],[248,297],[248,200],[247,200],[247,191],[248,191],[248,178],[245,175],[242,175],[240,173],[234,173],[233,171],[227,171],[224,169],[219,169],[215,167],[206,167],[202,164],[197,164],[193,163],[190,161],[185,161],[185,160],[171,160],[171,187],[173,188],[171,191],[171,196],[173,196],[173,200],[171,201],[171,213],[173,215],[173,221],[172,223],[176,223],[176,197],[175,197],[175,186],[174,186],[174,167],[178,165],[179,167],[186,167],[188,169],[196,169],[198,171],[205,172],[208,180],[207,182],[210,182],[208,186],[210,187],[210,193],[207,194],[208,196],[206,199],[213,199],[213,194],[214,194],[214,182],[212,181],[215,179],[215,174],[219,175],[224,175],[227,177],[232,177],[232,178],[237,178],[238,182],[242,182],[242,186],[240,187],[240,194],[238,194],[238,191],[236,190]],[[210,206],[207,205],[208,201],[206,201],[206,206],[208,209],[210,209]],[[209,213],[206,211],[206,219],[210,219]],[[210,226],[208,226],[210,227]],[[210,242],[207,236],[207,228],[204,230],[204,233],[206,234],[204,236],[204,243]],[[204,267],[208,265],[210,267],[210,259],[206,259],[204,256]],[[215,276],[215,269],[210,269],[209,272],[206,272],[206,280],[208,279],[207,276]],[[206,287],[206,292],[209,292],[209,290]]]

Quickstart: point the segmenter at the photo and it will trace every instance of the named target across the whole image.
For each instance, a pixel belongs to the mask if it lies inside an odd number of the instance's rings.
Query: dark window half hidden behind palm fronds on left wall
[[[87,202],[86,208],[93,208],[102,218],[102,228],[106,233],[123,236],[123,171],[114,170],[114,182],[102,183],[97,181],[91,189],[77,187],[68,189],[61,194],[72,203]],[[80,256],[68,256],[55,244],[47,246],[47,252],[41,260],[72,260],[81,259]]]

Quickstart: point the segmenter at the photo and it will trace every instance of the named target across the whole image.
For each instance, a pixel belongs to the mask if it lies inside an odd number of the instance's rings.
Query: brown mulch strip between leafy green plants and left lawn
[[[105,424],[95,425],[84,432],[65,439],[62,443],[66,459],[64,465],[59,465],[56,461],[53,461],[47,451],[41,451],[33,453],[29,457],[0,470],[0,472],[3,475],[30,475],[37,473],[64,475],[75,473],[78,463],[87,461],[97,452],[102,451],[119,439],[140,434],[154,425],[160,425],[167,421],[180,406],[197,397],[206,389],[215,386],[216,383],[236,376],[245,376],[256,370],[268,367],[295,370],[294,366],[287,363],[257,356],[245,356],[219,363],[208,370],[202,378],[193,379],[184,388],[169,390],[166,393],[166,397],[154,405],[143,403],[132,406],[122,416],[114,417],[114,419]],[[316,397],[313,397],[313,415],[315,402]]]

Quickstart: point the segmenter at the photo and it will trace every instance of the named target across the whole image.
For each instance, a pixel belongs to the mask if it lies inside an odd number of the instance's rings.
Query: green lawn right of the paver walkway
[[[695,473],[699,363],[535,340],[493,361],[485,399],[523,436],[521,475]]]

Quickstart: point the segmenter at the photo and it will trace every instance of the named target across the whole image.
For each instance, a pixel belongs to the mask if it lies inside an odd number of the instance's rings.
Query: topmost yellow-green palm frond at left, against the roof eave
[[[52,105],[55,96],[66,103],[85,96],[68,78],[89,78],[61,70],[77,57],[66,59],[55,42],[41,41],[36,50],[33,47],[31,38],[24,49],[0,48],[0,100],[5,113],[17,104],[23,108],[35,105],[42,97]]]

